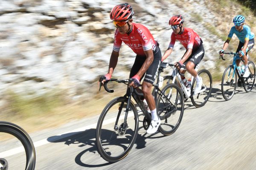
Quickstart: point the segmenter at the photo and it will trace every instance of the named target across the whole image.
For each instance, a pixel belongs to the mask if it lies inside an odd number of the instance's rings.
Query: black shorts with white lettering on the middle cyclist
[[[183,57],[184,57],[184,55],[183,55]],[[204,46],[203,46],[203,41],[201,40],[201,43],[200,43],[199,47],[195,50],[192,50],[191,55],[189,56],[189,58],[183,64],[186,65],[186,63],[188,61],[191,61],[196,66],[196,65],[199,64],[199,62],[201,62],[201,60],[203,58],[204,58]]]

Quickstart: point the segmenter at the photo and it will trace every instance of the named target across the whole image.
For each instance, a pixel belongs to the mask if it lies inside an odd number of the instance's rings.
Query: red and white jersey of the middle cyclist
[[[197,49],[201,43],[201,38],[196,34],[191,28],[184,28],[182,34],[174,34],[172,32],[171,42],[169,48],[173,48],[175,41],[178,40],[186,48],[192,48],[192,50]]]

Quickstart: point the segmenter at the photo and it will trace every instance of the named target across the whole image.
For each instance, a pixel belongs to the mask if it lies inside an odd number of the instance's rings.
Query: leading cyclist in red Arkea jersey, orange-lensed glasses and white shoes
[[[130,86],[137,88],[140,84],[140,79],[145,75],[142,83],[142,91],[151,111],[151,125],[148,127],[147,133],[152,134],[157,131],[161,123],[157,116],[151,87],[157,76],[162,55],[158,43],[154,40],[148,28],[142,24],[133,23],[133,14],[134,11],[128,3],[119,4],[111,10],[110,18],[116,26],[116,31],[108,74],[105,75],[102,83],[104,84],[106,80],[111,79],[113,70],[117,64],[119,49],[122,42],[124,42],[137,54],[130,72],[130,78],[133,79]]]

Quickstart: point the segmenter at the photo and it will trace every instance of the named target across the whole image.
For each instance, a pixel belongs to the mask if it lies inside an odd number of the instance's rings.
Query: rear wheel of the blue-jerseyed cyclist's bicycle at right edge
[[[253,89],[253,85],[255,82],[255,65],[252,61],[248,62],[248,69],[249,69],[250,75],[249,77],[244,79],[244,83],[243,83],[244,90],[246,92],[250,92]]]

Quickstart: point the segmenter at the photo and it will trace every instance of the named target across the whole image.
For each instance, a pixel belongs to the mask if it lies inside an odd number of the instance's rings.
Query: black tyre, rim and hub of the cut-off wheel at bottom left
[[[35,147],[28,133],[13,123],[0,122],[0,134],[1,133],[8,133],[15,136],[22,143],[26,153],[25,170],[35,170]],[[9,164],[8,159],[6,159],[7,158],[2,158],[0,155],[0,170],[8,170]]]

